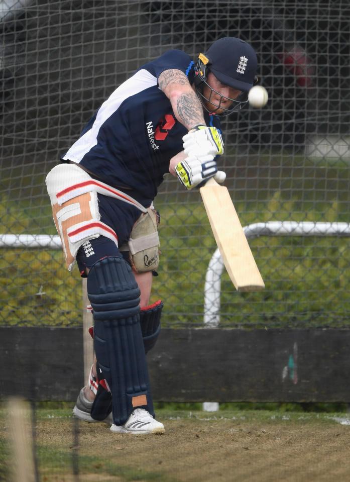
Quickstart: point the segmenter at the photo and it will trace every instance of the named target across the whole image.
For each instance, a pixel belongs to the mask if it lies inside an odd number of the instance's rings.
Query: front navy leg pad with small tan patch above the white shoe
[[[140,327],[140,290],[129,264],[122,257],[97,261],[87,277],[87,294],[96,358],[112,395],[114,423],[123,425],[137,407],[154,415]]]

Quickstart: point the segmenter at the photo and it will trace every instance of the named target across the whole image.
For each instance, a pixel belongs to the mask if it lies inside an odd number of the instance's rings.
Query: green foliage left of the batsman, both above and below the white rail
[[[3,232],[57,234],[50,206],[0,203]],[[75,273],[76,274],[76,273]],[[0,256],[0,324],[68,326],[80,324],[81,281],[68,273],[61,251],[2,249]]]

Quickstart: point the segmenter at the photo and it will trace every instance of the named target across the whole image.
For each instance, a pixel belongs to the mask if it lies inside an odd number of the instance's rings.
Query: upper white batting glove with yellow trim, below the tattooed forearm
[[[224,147],[220,132],[216,127],[196,126],[183,136],[183,148],[186,154],[194,154],[197,149],[213,156],[223,154]]]

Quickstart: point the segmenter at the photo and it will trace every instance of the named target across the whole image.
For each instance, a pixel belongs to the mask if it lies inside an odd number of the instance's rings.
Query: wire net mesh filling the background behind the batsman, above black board
[[[263,110],[223,122],[221,167],[242,225],[348,222],[350,7],[335,1],[10,1],[0,8],[2,234],[56,234],[44,179],[106,97],[169,48],[194,59],[238,36],[257,51],[269,91]],[[215,242],[199,193],[168,176],[160,276],[153,301],[164,326],[203,323],[204,280]],[[250,241],[266,282],[239,294],[224,271],[222,326],[347,326],[346,238]],[[2,247],[3,325],[81,323],[81,280],[58,250]]]

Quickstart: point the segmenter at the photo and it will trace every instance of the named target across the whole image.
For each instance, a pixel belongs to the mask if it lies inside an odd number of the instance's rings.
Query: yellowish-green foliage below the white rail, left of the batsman
[[[0,258],[4,325],[68,326],[81,317],[81,282],[60,251],[7,249]]]

